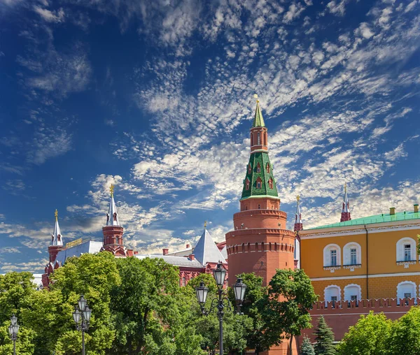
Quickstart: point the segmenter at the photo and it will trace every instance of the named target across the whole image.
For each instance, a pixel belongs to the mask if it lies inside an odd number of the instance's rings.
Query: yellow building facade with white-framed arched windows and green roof
[[[319,300],[420,297],[419,205],[297,233]]]

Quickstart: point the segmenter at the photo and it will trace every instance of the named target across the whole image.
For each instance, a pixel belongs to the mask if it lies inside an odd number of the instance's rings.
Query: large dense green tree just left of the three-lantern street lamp
[[[110,354],[200,354],[201,338],[191,326],[193,291],[181,291],[179,269],[149,258],[118,259],[117,265],[121,283],[112,292],[117,333]]]

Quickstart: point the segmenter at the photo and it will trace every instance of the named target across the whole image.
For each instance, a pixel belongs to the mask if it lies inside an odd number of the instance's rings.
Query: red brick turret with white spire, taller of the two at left
[[[118,212],[113,199],[113,184],[111,184],[109,190],[111,191],[111,201],[109,202],[109,210],[106,214],[106,225],[102,227],[102,233],[104,233],[104,246],[102,250],[111,252],[115,256],[129,256],[129,251],[123,243],[124,229],[120,226],[120,222],[118,222]]]

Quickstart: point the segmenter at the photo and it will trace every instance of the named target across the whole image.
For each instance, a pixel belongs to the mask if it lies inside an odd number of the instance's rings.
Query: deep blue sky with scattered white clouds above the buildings
[[[258,94],[293,226],[420,201],[420,3],[0,0],[0,273],[102,239],[109,184],[127,246],[232,228]]]

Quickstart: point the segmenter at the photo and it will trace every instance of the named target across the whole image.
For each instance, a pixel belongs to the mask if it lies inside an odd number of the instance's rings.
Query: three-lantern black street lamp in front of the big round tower
[[[209,289],[204,285],[204,282],[200,282],[200,286],[195,289],[195,292],[197,294],[198,303],[200,303],[202,314],[208,316],[211,313],[211,311],[217,308],[217,315],[219,319],[219,350],[220,354],[223,355],[223,314],[225,314],[225,312],[223,312],[223,309],[225,308],[224,302],[227,302],[230,310],[232,310],[232,307],[230,306],[230,302],[228,298],[225,297],[225,294],[223,292],[223,284],[225,283],[226,270],[225,268],[223,268],[223,265],[221,263],[218,263],[216,269],[213,270],[213,276],[214,280],[216,280],[218,296],[211,300],[211,306],[209,311],[205,310],[204,308],[204,304],[207,300],[207,294],[209,294]],[[244,284],[241,279],[238,279],[238,282],[234,285],[235,300],[237,301],[238,314],[241,314],[239,311],[242,301],[244,300],[245,289],[246,284]],[[214,304],[214,301],[216,301],[216,305]]]

